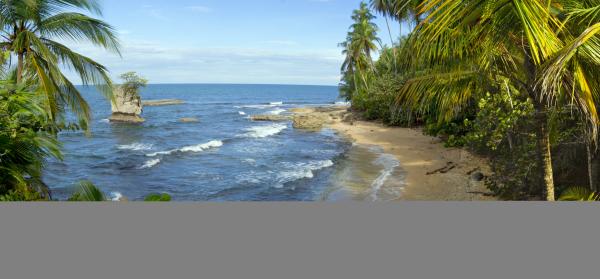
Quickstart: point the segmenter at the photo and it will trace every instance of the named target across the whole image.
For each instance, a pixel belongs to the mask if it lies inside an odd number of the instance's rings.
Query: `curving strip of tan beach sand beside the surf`
[[[326,110],[303,108],[294,112],[303,115],[317,114],[320,118],[325,114],[328,117],[325,127],[348,137],[359,146],[379,146],[383,152],[395,156],[400,162],[401,171],[395,171],[388,179],[403,181],[400,198],[395,200],[495,200],[483,181],[475,181],[471,177],[475,171],[490,174],[485,159],[464,149],[445,148],[439,138],[426,136],[421,129],[385,127],[366,121],[344,121],[346,110],[343,107]],[[358,164],[369,163],[368,160],[353,161]]]

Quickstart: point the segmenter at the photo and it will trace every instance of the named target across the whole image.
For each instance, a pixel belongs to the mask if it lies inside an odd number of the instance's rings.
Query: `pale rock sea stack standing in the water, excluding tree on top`
[[[111,103],[111,122],[117,123],[143,123],[140,117],[143,111],[142,98],[139,94],[128,94],[121,86],[116,86],[114,91],[114,102]]]

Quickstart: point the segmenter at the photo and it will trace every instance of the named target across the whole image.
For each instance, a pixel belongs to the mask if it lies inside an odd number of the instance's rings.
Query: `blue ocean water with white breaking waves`
[[[181,99],[185,104],[145,107],[146,122],[141,125],[109,123],[109,101],[92,87],[80,89],[93,109],[92,135],[60,134],[65,158],[48,162],[44,175],[53,199],[67,199],[81,180],[92,181],[113,199],[125,196],[134,201],[151,193],[168,193],[175,201],[319,201],[346,196],[340,181],[352,176],[347,156],[357,152],[355,145],[332,130],[309,132],[293,129],[291,123],[248,118],[333,105],[342,101],[337,87],[149,85],[142,90],[143,99]],[[182,123],[181,118],[199,122]],[[374,174],[389,173],[389,166],[396,164],[381,160],[373,158]],[[381,175],[362,183],[381,187],[376,185]],[[365,199],[372,196],[368,192]]]

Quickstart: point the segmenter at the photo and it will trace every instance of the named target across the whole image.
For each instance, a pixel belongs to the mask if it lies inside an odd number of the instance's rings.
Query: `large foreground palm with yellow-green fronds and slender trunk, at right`
[[[548,110],[575,104],[595,135],[600,100],[598,0],[428,0],[411,37],[414,64],[399,100],[455,115],[475,92],[507,81],[533,100],[545,196],[555,200]],[[415,65],[413,65],[415,67]],[[497,89],[497,88],[496,88]]]

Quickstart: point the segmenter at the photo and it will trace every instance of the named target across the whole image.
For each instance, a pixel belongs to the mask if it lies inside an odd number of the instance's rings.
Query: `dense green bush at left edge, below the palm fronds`
[[[62,158],[60,144],[43,109],[39,94],[9,82],[0,82],[0,195],[6,199],[33,199],[29,192],[40,190],[42,167],[47,157]]]

